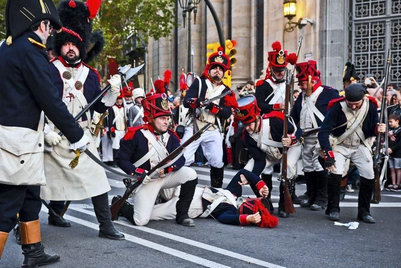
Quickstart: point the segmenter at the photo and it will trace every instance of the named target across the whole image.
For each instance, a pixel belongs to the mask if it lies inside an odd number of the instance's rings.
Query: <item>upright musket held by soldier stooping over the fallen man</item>
[[[290,79],[290,74],[287,72],[287,81],[286,81],[286,89],[285,89],[285,100],[284,100],[284,135],[283,138],[288,138],[288,117],[289,117],[289,104],[290,104],[290,91],[291,91],[291,83],[293,82],[294,75],[292,75]],[[294,214],[295,208],[292,203],[290,191],[288,190],[288,178],[287,178],[287,146],[283,146],[283,161],[281,165],[281,177],[282,183],[284,181],[284,211],[287,213]]]

